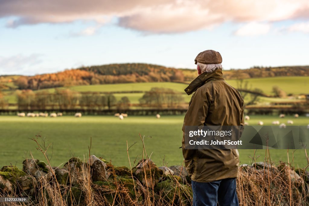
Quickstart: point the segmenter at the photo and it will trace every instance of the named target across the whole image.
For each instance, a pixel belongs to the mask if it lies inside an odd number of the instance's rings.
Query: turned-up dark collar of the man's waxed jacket
[[[221,69],[216,69],[215,71],[211,72],[211,73],[201,73],[200,75],[198,75],[198,77],[196,79],[194,79],[187,88],[184,89],[184,91],[190,95],[193,92],[195,92],[199,87],[201,87],[203,84],[212,81],[212,80],[216,80],[216,79],[223,79],[223,74],[222,74],[222,70]]]

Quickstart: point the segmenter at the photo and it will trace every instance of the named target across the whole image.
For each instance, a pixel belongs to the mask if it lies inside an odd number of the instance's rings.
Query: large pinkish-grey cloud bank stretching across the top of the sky
[[[275,22],[308,19],[308,0],[10,0],[0,1],[0,18],[14,17],[7,27],[40,23],[95,21],[116,17],[117,25],[149,33],[188,32],[214,28],[225,22]],[[16,19],[17,18],[17,19]],[[256,23],[261,24],[261,23]],[[261,25],[259,25],[261,26]],[[264,25],[264,30],[266,30]],[[80,35],[95,33],[87,30]]]

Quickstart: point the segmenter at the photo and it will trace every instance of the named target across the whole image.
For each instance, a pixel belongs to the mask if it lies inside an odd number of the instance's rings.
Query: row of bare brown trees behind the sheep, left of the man
[[[177,108],[184,98],[180,92],[166,88],[151,88],[139,99],[139,106],[148,108]],[[55,89],[51,93],[47,90],[34,92],[19,90],[17,92],[17,106],[19,110],[44,109],[119,109],[126,110],[131,106],[128,97],[117,100],[113,93],[76,92],[70,89]],[[1,107],[1,96],[0,96]]]

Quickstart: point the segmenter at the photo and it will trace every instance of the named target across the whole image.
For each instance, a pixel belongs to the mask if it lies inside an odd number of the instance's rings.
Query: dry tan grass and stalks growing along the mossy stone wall
[[[140,136],[144,143],[144,137]],[[49,164],[47,149],[49,146],[39,144],[38,149],[44,154]],[[130,147],[127,145],[127,152]],[[149,160],[151,157],[146,152],[143,144],[143,159]],[[91,156],[91,144],[89,147],[89,161]],[[307,154],[304,155],[307,158]],[[155,172],[152,172],[149,164],[148,168],[143,167],[143,177],[150,178],[151,184],[146,185],[134,174],[128,155],[130,175],[126,177],[117,176],[114,166],[110,172],[112,178],[103,182],[93,182],[91,180],[91,167],[87,164],[88,157],[84,158],[83,165],[79,173],[74,174],[78,180],[78,185],[73,185],[68,176],[67,184],[57,182],[56,174],[53,173],[51,181],[46,178],[38,180],[38,187],[31,197],[30,203],[11,203],[0,205],[31,205],[31,206],[99,206],[99,205],[192,205],[192,190],[190,184],[183,184],[180,178],[175,175],[164,176],[163,181],[157,181]],[[252,163],[256,160],[252,157]],[[293,160],[292,160],[293,161]],[[269,150],[265,150],[265,168],[242,167],[239,169],[237,178],[237,194],[239,205],[309,205],[308,185],[306,182],[299,182],[291,179],[290,169],[294,169],[290,162],[281,163],[274,167],[270,161]],[[133,164],[134,165],[134,164]],[[306,168],[305,168],[306,169]],[[150,172],[149,172],[150,171]],[[18,187],[16,187],[18,188]],[[18,190],[11,193],[1,194],[1,197],[16,197]]]

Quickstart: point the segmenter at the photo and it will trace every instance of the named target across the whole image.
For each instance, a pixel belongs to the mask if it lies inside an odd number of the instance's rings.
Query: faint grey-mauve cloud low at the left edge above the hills
[[[29,67],[39,64],[41,62],[41,56],[41,54],[31,54],[28,56],[18,54],[10,57],[0,56],[0,75],[18,74],[26,71]]]

